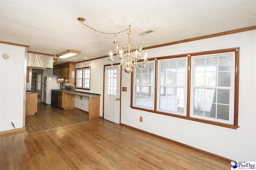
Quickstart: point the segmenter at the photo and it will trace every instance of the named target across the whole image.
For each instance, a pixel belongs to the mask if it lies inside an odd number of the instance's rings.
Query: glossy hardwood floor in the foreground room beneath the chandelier
[[[28,135],[0,135],[0,167],[230,170],[230,162],[99,119]]]

